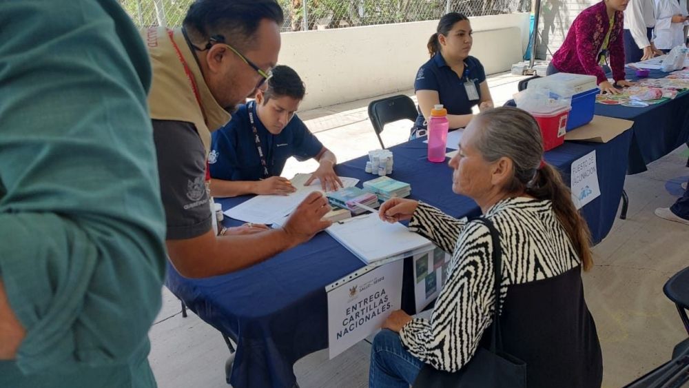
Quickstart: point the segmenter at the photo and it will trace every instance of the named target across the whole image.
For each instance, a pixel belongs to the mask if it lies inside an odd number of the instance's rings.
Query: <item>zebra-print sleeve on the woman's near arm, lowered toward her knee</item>
[[[493,321],[493,240],[486,225],[468,223],[457,241],[446,285],[430,320],[415,318],[400,331],[402,345],[424,363],[458,371],[471,360]]]

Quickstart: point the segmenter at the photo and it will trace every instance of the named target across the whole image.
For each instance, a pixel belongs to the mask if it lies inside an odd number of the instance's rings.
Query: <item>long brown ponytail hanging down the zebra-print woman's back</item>
[[[562,176],[555,168],[544,163],[536,170],[533,180],[526,186],[526,194],[540,200],[550,200],[557,221],[564,228],[570,242],[582,261],[582,268],[588,271],[593,267],[591,253],[591,234],[588,224],[572,202],[572,194],[562,181]]]

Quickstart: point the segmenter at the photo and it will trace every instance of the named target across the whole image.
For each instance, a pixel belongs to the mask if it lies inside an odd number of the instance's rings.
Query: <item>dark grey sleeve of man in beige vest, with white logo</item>
[[[196,127],[183,121],[153,121],[167,240],[194,238],[212,228],[205,185],[205,150]]]

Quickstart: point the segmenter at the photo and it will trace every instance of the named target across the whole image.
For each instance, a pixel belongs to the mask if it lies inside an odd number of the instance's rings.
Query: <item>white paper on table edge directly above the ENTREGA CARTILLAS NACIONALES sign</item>
[[[377,213],[338,221],[325,230],[367,264],[413,256],[433,246],[401,223],[381,222]]]

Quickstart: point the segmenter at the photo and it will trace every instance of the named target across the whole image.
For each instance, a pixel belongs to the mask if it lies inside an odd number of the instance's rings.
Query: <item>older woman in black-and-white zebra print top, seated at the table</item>
[[[473,198],[500,232],[504,350],[527,365],[529,387],[600,387],[602,359],[581,283],[593,266],[586,222],[559,173],[542,161],[539,127],[515,108],[482,112],[464,130],[453,192]],[[393,198],[380,217],[452,252],[429,320],[393,312],[371,349],[371,387],[408,387],[428,364],[459,371],[495,309],[495,247],[488,227],[425,203]]]

